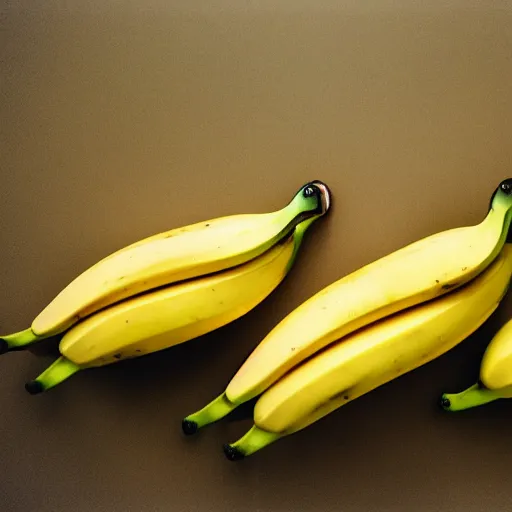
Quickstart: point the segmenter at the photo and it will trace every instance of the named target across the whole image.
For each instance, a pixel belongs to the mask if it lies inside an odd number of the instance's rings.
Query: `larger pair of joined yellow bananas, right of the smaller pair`
[[[512,276],[512,179],[474,226],[428,236],[327,286],[285,317],[224,392],[182,421],[193,434],[256,399],[237,460],[460,343],[495,311]]]

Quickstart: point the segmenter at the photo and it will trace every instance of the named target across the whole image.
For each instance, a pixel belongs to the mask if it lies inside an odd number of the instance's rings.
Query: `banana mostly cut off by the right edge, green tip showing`
[[[512,320],[498,330],[482,357],[480,379],[460,393],[444,393],[440,404],[447,411],[479,407],[500,398],[512,398]]]

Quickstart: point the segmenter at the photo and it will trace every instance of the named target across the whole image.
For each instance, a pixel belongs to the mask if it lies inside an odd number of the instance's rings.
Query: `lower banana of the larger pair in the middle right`
[[[451,350],[496,310],[512,277],[512,244],[473,281],[352,333],[273,384],[254,407],[254,425],[224,446],[251,455]]]

